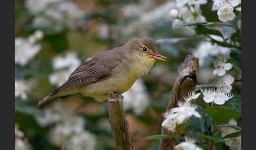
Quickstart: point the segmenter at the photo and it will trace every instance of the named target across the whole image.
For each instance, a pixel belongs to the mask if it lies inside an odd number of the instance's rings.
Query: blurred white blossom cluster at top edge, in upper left
[[[76,29],[84,25],[84,10],[65,0],[27,0],[26,7],[35,15],[32,26],[58,33],[66,28]]]

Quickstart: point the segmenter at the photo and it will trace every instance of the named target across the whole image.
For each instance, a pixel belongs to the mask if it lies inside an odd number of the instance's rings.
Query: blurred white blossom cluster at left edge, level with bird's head
[[[36,41],[43,38],[41,30],[29,36],[27,39],[22,37],[15,38],[15,63],[25,66],[29,60],[41,50],[41,44],[35,44]]]

